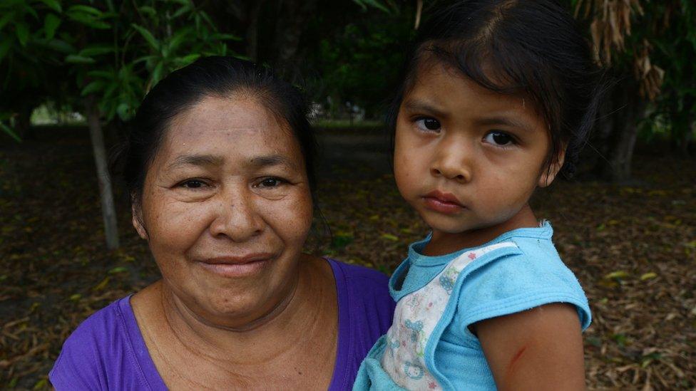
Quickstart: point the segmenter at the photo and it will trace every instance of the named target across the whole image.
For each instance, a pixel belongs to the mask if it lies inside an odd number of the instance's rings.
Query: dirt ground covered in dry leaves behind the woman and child
[[[158,278],[122,193],[122,246],[104,249],[83,132],[40,140],[0,145],[0,388],[50,387],[76,325]],[[389,273],[426,226],[388,170],[324,162],[319,204],[332,236],[317,219],[307,251]],[[590,389],[696,389],[696,160],[640,152],[632,184],[559,182],[533,207],[590,300]]]

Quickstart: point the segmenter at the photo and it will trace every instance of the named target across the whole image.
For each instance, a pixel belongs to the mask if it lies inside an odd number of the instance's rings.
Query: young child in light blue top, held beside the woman
[[[460,1],[422,34],[389,124],[432,231],[389,281],[394,323],[354,390],[584,389],[588,301],[528,200],[595,118],[588,45],[552,0]]]

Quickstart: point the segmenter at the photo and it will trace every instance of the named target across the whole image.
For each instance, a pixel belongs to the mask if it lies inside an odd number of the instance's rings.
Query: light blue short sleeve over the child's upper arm
[[[590,325],[588,300],[578,279],[558,256],[513,254],[466,276],[459,292],[461,325],[526,311],[550,303],[575,306],[583,330]]]

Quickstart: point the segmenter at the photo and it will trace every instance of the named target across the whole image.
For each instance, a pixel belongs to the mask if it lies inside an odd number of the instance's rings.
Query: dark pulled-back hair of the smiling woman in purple
[[[314,197],[317,148],[302,93],[268,68],[233,57],[210,56],[170,73],[140,104],[131,132],[117,148],[111,165],[113,172],[120,171],[131,203],[140,203],[145,174],[172,120],[203,98],[228,98],[236,93],[260,100],[292,131],[305,157],[309,188]]]

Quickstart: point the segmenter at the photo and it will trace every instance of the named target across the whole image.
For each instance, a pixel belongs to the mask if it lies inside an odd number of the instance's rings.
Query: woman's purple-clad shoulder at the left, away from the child
[[[130,299],[131,296],[118,299],[93,313],[66,339],[48,374],[56,390],[143,387],[145,380],[138,356],[148,352]]]

